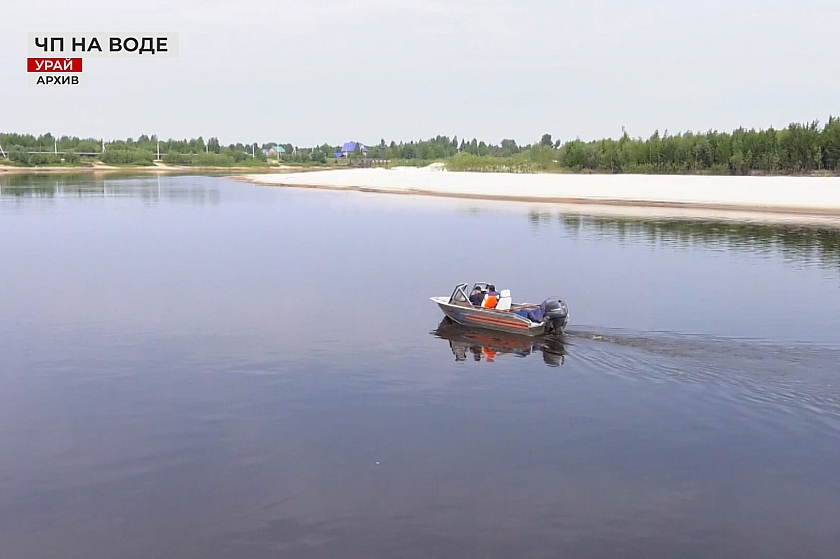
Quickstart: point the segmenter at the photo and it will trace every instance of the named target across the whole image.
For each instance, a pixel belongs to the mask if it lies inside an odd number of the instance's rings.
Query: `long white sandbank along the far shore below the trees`
[[[776,214],[775,220],[783,221],[810,216],[821,217],[819,221],[827,224],[840,223],[840,177],[511,174],[446,172],[430,166],[234,178],[268,186],[603,205],[625,210],[711,210],[738,212],[742,218],[754,219],[760,219],[757,214]]]

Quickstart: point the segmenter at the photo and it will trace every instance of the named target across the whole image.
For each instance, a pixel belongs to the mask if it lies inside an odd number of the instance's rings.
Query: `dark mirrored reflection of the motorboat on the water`
[[[540,351],[546,365],[559,367],[563,364],[566,354],[563,339],[559,337],[529,338],[494,330],[468,328],[452,322],[449,318],[444,318],[432,334],[449,341],[455,361],[472,359],[492,362],[501,354],[527,357]]]

